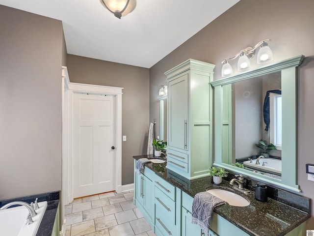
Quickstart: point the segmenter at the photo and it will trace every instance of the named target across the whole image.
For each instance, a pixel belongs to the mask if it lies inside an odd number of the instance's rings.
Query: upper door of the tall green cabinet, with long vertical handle
[[[168,82],[168,145],[188,150],[188,76]]]

